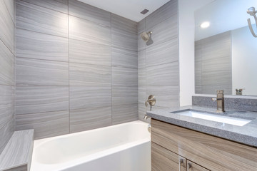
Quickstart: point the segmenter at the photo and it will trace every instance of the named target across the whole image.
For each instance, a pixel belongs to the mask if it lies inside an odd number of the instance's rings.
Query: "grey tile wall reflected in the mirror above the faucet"
[[[195,43],[196,93],[213,94],[223,89],[232,93],[231,31]]]

